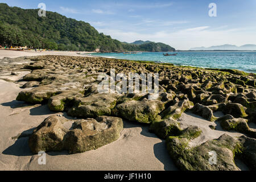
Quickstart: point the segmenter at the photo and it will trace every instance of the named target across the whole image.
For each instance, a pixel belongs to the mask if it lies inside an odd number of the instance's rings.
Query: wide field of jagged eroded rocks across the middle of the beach
[[[97,57],[40,56],[31,59],[32,63],[23,66],[32,70],[23,77],[24,81],[28,81],[23,87],[37,87],[20,92],[16,99],[30,103],[48,102],[51,110],[67,111],[73,117],[118,115],[132,121],[151,123],[169,117],[177,119],[193,105],[201,104],[205,106],[204,109],[196,105],[194,113],[213,121],[216,118],[210,110],[223,111],[241,118],[252,118],[255,110],[255,86],[252,84],[255,77],[252,75],[233,75],[233,72]],[[154,98],[152,94],[148,94],[129,98],[131,93],[114,99],[100,97],[97,91],[98,73],[106,73],[109,77],[110,68],[114,68],[116,73],[125,74],[159,73],[159,97]],[[244,84],[232,82],[234,79],[241,80]],[[98,95],[94,96],[95,94]],[[99,97],[98,100],[96,97]],[[143,98],[158,100],[153,104],[156,108],[148,106],[147,102],[142,101]],[[103,103],[104,99],[108,103]],[[129,99],[132,101],[128,102]],[[91,104],[88,104],[88,100],[92,101]],[[97,104],[94,105],[96,100]],[[139,104],[144,106],[135,109]],[[196,111],[196,108],[199,110]],[[202,109],[206,113],[202,113]],[[128,114],[127,117],[126,111],[134,112],[135,116]]]

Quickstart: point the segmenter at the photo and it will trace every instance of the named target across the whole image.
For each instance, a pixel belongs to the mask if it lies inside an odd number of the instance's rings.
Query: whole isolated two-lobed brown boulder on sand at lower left
[[[70,154],[93,150],[119,138],[123,129],[121,118],[101,116],[96,119],[79,119],[67,129],[63,117],[46,118],[28,140],[31,151],[68,150]]]

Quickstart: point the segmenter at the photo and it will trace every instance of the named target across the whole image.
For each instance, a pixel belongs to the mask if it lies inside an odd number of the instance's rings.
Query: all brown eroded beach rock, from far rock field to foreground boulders
[[[35,153],[40,150],[77,153],[101,147],[118,139],[123,118],[150,123],[150,131],[166,139],[171,158],[180,169],[238,170],[234,156],[255,169],[255,130],[247,125],[247,122],[256,122],[256,76],[253,73],[97,57],[51,55],[16,60],[24,64],[8,64],[10,59],[7,58],[7,64],[0,65],[2,75],[15,76],[11,72],[18,73],[21,69],[31,71],[23,77],[27,84],[20,86],[26,89],[16,100],[48,104],[52,111],[66,111],[72,117],[82,118],[75,120],[71,128],[64,126],[63,118],[45,119],[30,137],[30,148]],[[110,78],[111,68],[125,75],[159,73],[159,96],[98,93],[99,73],[106,73]],[[118,85],[119,81],[114,84]],[[222,135],[189,147],[188,143],[202,131],[196,126],[180,128],[176,120],[187,110],[208,121],[218,119],[216,122],[221,122],[222,129],[235,130],[246,137]],[[218,118],[214,116],[216,111],[226,115]],[[216,165],[209,164],[209,151],[216,151]]]

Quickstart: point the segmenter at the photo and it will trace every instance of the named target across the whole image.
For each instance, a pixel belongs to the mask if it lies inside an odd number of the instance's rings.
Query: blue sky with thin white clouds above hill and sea
[[[180,50],[256,44],[256,0],[0,2],[23,9],[38,9],[39,3],[45,3],[47,11],[88,22],[98,32],[121,42],[150,40]],[[216,4],[216,16],[209,16],[210,3]]]

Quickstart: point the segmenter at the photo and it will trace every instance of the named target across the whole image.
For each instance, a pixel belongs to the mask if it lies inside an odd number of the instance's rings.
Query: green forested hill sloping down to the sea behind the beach
[[[121,43],[99,33],[89,23],[38,9],[21,9],[0,3],[0,44],[72,51],[175,51],[163,43],[142,45]]]

